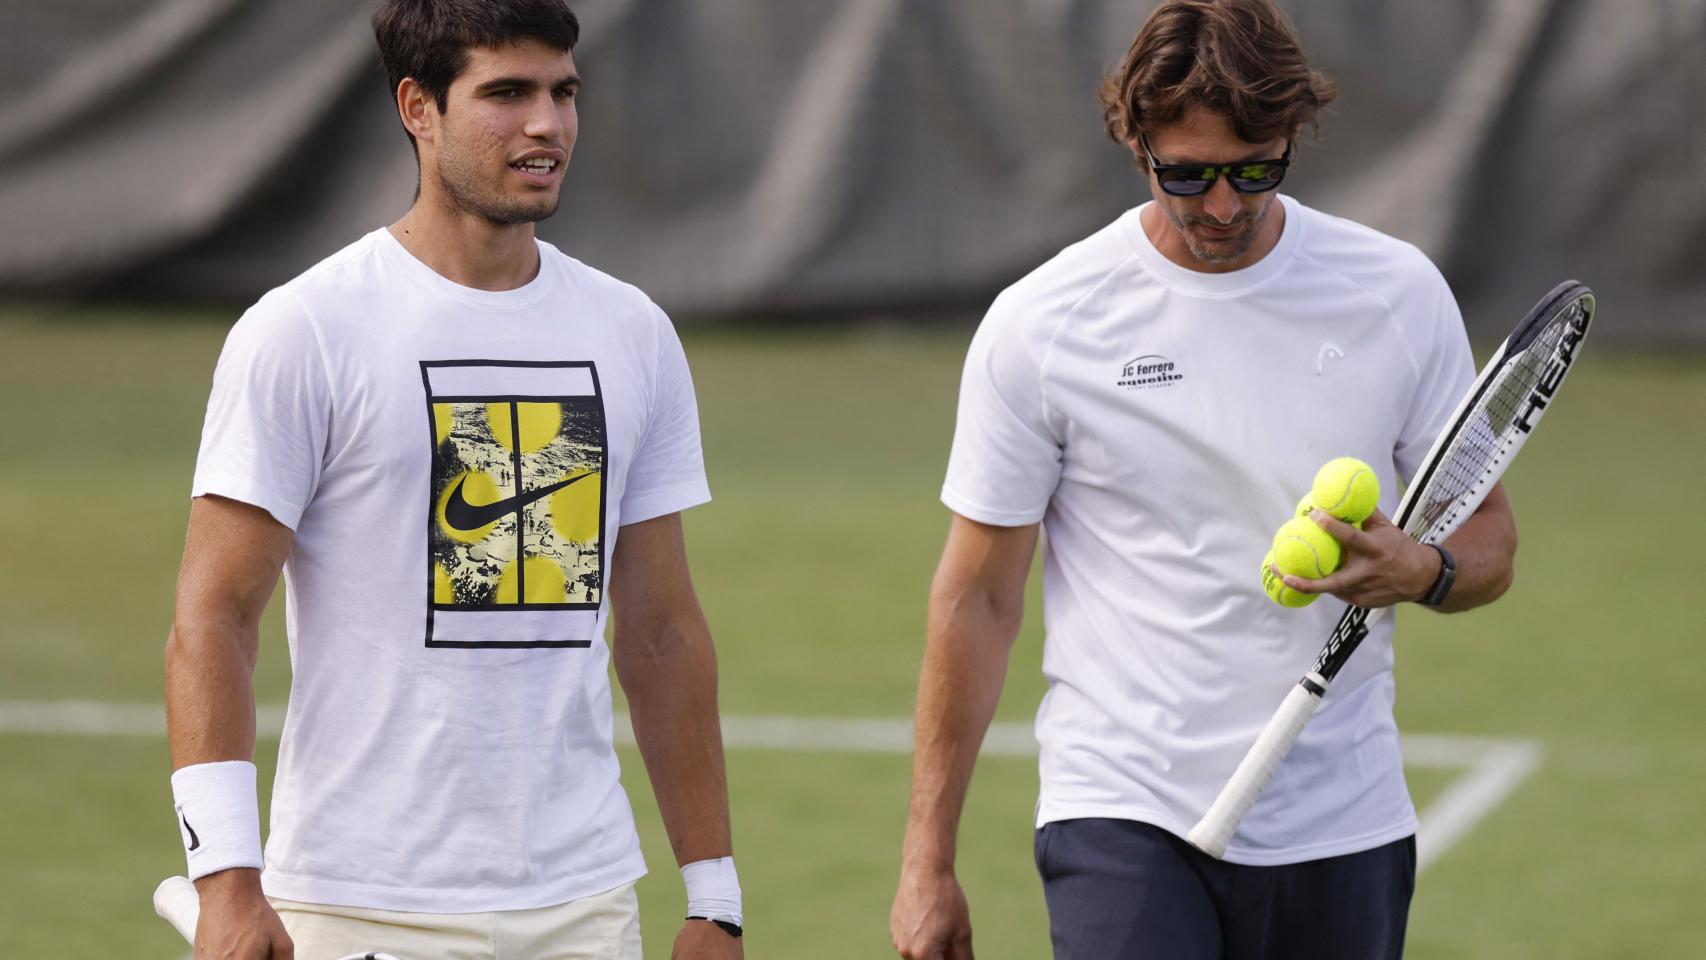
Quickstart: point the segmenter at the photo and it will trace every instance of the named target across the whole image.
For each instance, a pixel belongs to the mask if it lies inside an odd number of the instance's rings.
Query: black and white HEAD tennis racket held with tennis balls
[[[1593,292],[1570,280],[1529,310],[1433,442],[1404,489],[1394,525],[1416,542],[1436,544],[1481,506],[1558,396],[1593,322]],[[1244,815],[1320,706],[1327,684],[1385,612],[1346,607],[1315,667],[1291,687],[1208,813],[1191,829],[1192,846],[1216,859],[1227,853]]]

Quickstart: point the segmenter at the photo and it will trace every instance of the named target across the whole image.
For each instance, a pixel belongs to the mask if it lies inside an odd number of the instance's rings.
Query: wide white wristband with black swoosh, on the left
[[[254,796],[254,776],[249,760],[191,764],[172,772],[177,832],[191,880],[235,866],[261,868],[261,805]]]

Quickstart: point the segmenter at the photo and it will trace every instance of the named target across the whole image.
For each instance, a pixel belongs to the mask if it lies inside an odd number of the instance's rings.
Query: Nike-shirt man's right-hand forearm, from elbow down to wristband
[[[628,696],[635,742],[676,861],[730,856],[728,779],[710,629],[696,619],[650,624],[641,636],[618,621],[616,633],[616,677]]]

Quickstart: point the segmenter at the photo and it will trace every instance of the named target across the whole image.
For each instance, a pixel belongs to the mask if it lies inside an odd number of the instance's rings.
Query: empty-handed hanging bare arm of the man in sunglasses
[[[954,517],[930,587],[911,812],[889,916],[894,946],[908,960],[971,958],[971,914],[954,876],[955,837],[1024,622],[1036,546],[1036,523],[991,527]]]

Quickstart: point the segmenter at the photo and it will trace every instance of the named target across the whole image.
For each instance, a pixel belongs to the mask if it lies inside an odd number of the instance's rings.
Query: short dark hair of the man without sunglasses
[[[374,10],[374,39],[391,94],[411,77],[444,113],[469,48],[537,39],[575,49],[580,20],[563,0],[384,0]]]

